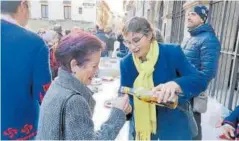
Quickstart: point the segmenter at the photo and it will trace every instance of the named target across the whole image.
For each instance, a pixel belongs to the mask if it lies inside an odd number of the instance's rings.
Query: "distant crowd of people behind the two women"
[[[57,76],[57,68],[59,64],[55,60],[54,52],[58,43],[63,36],[70,33],[75,33],[79,31],[84,31],[80,27],[73,27],[71,30],[66,29],[63,31],[61,25],[55,24],[50,29],[43,29],[37,32],[37,34],[46,42],[50,49],[50,66],[52,71],[52,78]],[[101,53],[101,57],[112,57],[112,58],[123,58],[129,53],[128,48],[123,43],[123,36],[121,33],[113,32],[111,28],[99,28],[98,25],[95,26],[94,30],[88,31],[88,33],[98,37],[101,42],[104,43],[104,50]],[[157,32],[159,40],[162,41],[162,35],[160,31]]]

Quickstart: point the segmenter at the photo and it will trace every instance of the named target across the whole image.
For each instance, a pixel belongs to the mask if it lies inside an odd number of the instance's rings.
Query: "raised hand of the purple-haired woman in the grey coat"
[[[129,104],[129,96],[125,94],[122,97],[118,97],[111,101],[112,107],[118,108],[125,112],[125,114],[129,114],[132,111],[132,107]]]

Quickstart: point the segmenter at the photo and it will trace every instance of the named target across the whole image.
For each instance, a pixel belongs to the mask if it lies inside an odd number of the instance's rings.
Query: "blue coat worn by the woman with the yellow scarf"
[[[159,44],[159,60],[155,65],[153,73],[154,86],[175,81],[184,92],[184,97],[179,98],[179,103],[183,104],[192,97],[197,96],[207,87],[207,81],[202,73],[199,73],[187,61],[180,46],[172,44]],[[133,87],[133,83],[138,76],[132,54],[121,60],[121,86]],[[181,76],[177,77],[176,71]],[[133,98],[130,97],[130,104],[133,106]],[[157,134],[152,139],[160,140],[186,140],[192,139],[192,132],[186,114],[179,109],[168,109],[157,106]],[[142,112],[143,116],[143,112]],[[130,121],[130,133],[135,136],[134,119]]]

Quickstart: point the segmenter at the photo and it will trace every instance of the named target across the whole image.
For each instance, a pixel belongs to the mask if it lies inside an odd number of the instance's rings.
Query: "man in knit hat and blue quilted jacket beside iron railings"
[[[185,39],[182,43],[182,48],[188,61],[207,76],[209,83],[216,76],[221,45],[212,26],[206,23],[208,12],[207,7],[202,5],[195,6],[189,10],[187,27],[190,38]],[[207,97],[205,92],[199,96],[206,103]],[[193,107],[196,105],[207,106],[207,104],[197,104],[196,100],[196,98],[192,100]],[[197,109],[202,108],[199,107]],[[193,139],[201,140],[201,111],[194,111],[194,117],[198,125],[199,134]]]

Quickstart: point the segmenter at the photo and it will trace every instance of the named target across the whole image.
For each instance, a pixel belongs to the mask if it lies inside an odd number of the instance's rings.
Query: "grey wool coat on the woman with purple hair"
[[[40,109],[38,140],[59,140],[60,109],[63,101],[72,93],[65,107],[65,140],[114,140],[126,121],[125,113],[112,108],[108,120],[100,130],[94,130],[92,115],[95,100],[88,87],[81,84],[71,73],[59,69],[58,77],[52,82]]]

